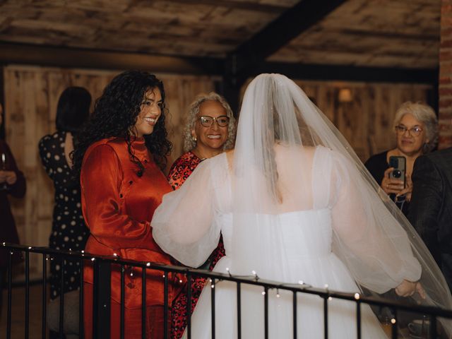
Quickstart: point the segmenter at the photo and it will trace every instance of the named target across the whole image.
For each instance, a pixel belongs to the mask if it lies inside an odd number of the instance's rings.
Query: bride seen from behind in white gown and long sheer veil
[[[236,148],[202,162],[155,211],[153,237],[187,266],[224,239],[215,271],[341,292],[397,295],[451,309],[452,298],[420,237],[337,129],[290,79],[261,74],[242,103]],[[264,338],[262,287],[242,284],[242,338]],[[210,338],[210,293],[191,337]],[[292,294],[268,292],[269,338],[292,338]],[[215,338],[237,338],[236,284],[215,284]],[[322,338],[323,299],[297,294],[299,338]],[[362,307],[364,338],[386,338]],[[329,338],[356,338],[356,307],[328,302]],[[186,333],[185,333],[186,336]]]

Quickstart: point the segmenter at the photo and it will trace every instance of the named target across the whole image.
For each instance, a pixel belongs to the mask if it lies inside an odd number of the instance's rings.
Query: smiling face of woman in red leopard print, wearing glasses
[[[216,100],[205,101],[199,107],[198,117],[191,135],[197,139],[195,150],[198,151],[198,154],[202,157],[212,157],[222,151],[222,147],[227,141],[228,126],[221,127],[216,120],[209,127],[203,126],[199,121],[199,118],[203,116],[218,118],[227,116],[227,112],[225,107],[222,107]]]

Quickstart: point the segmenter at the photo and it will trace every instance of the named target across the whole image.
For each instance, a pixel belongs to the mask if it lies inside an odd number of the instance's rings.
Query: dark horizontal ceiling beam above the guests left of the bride
[[[88,69],[142,69],[155,73],[221,75],[222,59],[169,57],[0,41],[0,64],[78,67]]]

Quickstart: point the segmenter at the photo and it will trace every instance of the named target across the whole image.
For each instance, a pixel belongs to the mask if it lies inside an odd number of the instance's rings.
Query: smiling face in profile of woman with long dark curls
[[[141,102],[141,112],[138,114],[135,124],[135,136],[141,138],[153,133],[154,126],[162,114],[162,94],[158,88],[150,88],[146,91],[143,102]]]

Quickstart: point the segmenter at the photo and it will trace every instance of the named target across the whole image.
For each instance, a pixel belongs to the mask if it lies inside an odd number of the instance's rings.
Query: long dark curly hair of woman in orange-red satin
[[[162,94],[162,114],[154,126],[153,133],[144,136],[145,145],[153,155],[160,169],[167,165],[167,155],[172,143],[167,139],[165,129],[165,89],[162,81],[144,71],[125,71],[116,76],[96,100],[93,115],[78,136],[78,143],[72,154],[73,168],[80,177],[83,156],[90,145],[103,138],[124,138],[129,148],[130,160],[137,166],[137,174],[143,175],[144,166],[133,155],[131,148],[131,127],[135,126],[141,112],[141,102],[146,91],[158,88]]]

